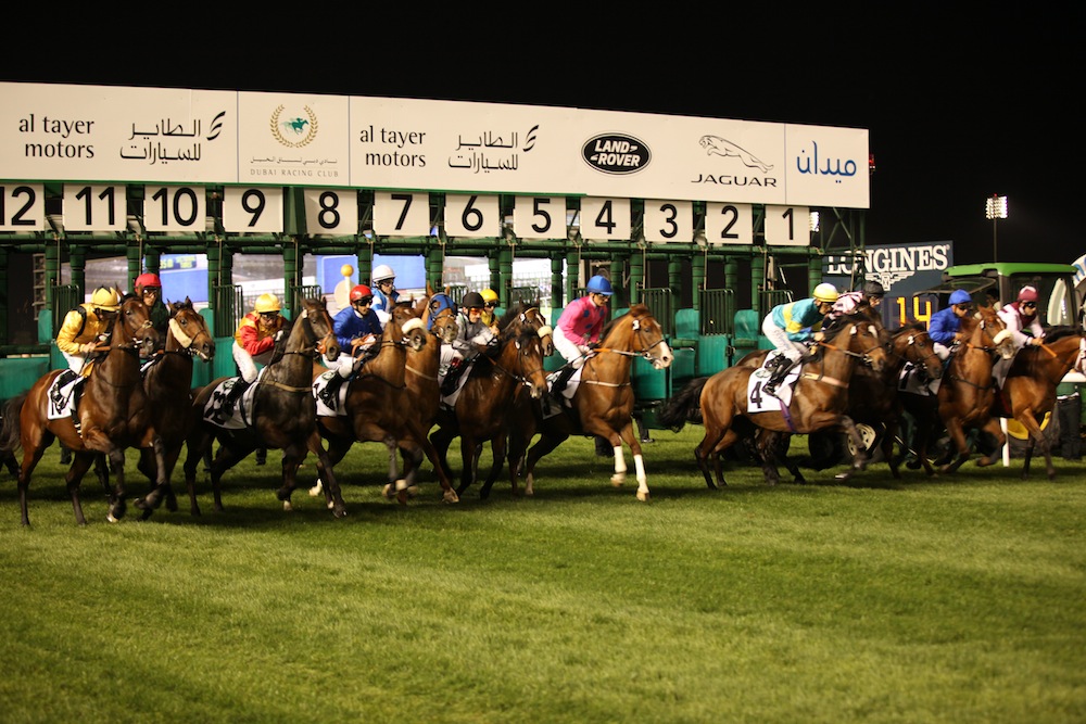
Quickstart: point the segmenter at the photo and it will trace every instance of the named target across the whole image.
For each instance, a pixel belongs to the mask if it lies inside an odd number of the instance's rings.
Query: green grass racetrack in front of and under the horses
[[[655,433],[648,504],[574,439],[534,498],[401,508],[366,445],[342,520],[272,452],[200,518],[85,481],[83,529],[53,448],[29,529],[0,482],[0,721],[1086,721],[1086,465],[709,491],[700,432]]]

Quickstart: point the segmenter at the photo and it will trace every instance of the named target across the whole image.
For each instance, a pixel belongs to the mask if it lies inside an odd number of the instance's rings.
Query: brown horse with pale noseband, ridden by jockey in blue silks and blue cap
[[[977,428],[992,434],[996,449],[986,458],[977,460],[978,466],[994,465],[999,460],[999,450],[1007,442],[999,429],[999,418],[992,414],[996,399],[995,382],[992,377],[993,356],[1009,359],[1014,354],[1014,343],[1007,326],[990,307],[980,307],[976,315],[965,317],[961,330],[968,339],[950,356],[950,365],[939,384],[938,419],[943,420],[950,439],[958,448],[958,457],[939,468],[940,472],[954,472],[969,459],[965,428]],[[934,420],[918,420],[917,456],[924,470],[932,474],[927,462],[927,443]]]

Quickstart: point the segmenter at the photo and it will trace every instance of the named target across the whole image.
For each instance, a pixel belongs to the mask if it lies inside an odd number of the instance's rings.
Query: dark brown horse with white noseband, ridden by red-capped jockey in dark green
[[[156,352],[143,369],[143,392],[154,430],[155,455],[151,456],[150,450],[144,448],[140,470],[155,480],[155,459],[162,455],[166,461],[166,487],[155,486],[147,497],[136,500],[136,507],[143,511],[144,520],[159,507],[163,495],[166,496],[166,508],[177,510],[177,498],[169,479],[181,446],[192,429],[192,416],[181,414],[180,410],[188,411],[192,406],[193,357],[200,357],[205,363],[214,359],[215,340],[207,329],[206,320],[192,306],[192,300],[185,297],[184,302],[169,305],[166,346],[162,352]],[[161,453],[160,445],[163,446]]]

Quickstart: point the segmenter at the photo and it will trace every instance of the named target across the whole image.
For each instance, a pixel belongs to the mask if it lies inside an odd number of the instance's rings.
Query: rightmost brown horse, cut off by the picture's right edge
[[[1023,347],[1011,363],[996,399],[996,412],[1012,417],[1030,431],[1025,448],[1022,478],[1030,475],[1034,446],[1039,443],[1045,456],[1048,479],[1056,478],[1052,453],[1038,420],[1056,407],[1056,385],[1072,367],[1083,371],[1086,360],[1086,338],[1070,327],[1057,327],[1045,335],[1039,346]]]

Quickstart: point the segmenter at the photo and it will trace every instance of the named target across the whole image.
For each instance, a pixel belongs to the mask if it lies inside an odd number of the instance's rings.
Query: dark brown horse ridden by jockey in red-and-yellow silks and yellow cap
[[[188,437],[188,456],[185,459],[185,483],[192,515],[200,515],[195,497],[197,466],[214,440],[219,443],[211,466],[215,510],[223,510],[223,473],[262,446],[283,452],[282,486],[276,492],[283,510],[291,509],[290,496],[298,487],[298,467],[310,452],[317,456],[317,469],[327,491],[328,507],[337,518],[346,515],[332,463],[320,444],[312,386],[313,360],[324,354],[334,361],[340,354],[339,342],[323,299],[302,300],[301,306],[301,314],[290,322],[289,333],[281,330],[272,361],[256,382],[252,393],[252,420],[244,428],[219,427],[204,416],[216,388],[229,378],[214,380],[197,392],[191,406],[197,422]],[[238,404],[240,406],[242,401]]]

